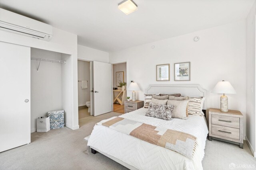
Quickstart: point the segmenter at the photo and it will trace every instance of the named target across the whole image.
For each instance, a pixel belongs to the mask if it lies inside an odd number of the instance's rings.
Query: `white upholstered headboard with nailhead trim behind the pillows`
[[[182,96],[204,97],[207,91],[198,84],[150,84],[146,89],[146,94],[175,94],[180,93]],[[207,109],[207,100],[204,100],[203,109]]]

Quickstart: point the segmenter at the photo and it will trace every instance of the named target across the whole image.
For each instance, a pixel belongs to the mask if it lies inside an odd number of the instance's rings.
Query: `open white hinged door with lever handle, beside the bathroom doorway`
[[[111,64],[93,62],[94,116],[112,111]]]

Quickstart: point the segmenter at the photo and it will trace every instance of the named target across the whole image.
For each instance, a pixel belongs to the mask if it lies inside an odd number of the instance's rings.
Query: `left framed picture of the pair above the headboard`
[[[170,64],[156,65],[156,81],[170,81]]]

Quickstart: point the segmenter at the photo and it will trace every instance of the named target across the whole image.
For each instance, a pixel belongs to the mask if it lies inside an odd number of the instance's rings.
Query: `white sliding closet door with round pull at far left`
[[[28,143],[30,47],[0,42],[0,152]]]

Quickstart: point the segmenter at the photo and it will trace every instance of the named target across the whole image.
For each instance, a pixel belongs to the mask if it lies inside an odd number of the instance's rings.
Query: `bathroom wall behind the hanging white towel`
[[[78,106],[85,106],[90,101],[90,62],[78,60],[78,80],[88,81],[86,89],[82,89],[82,82],[78,82]]]

